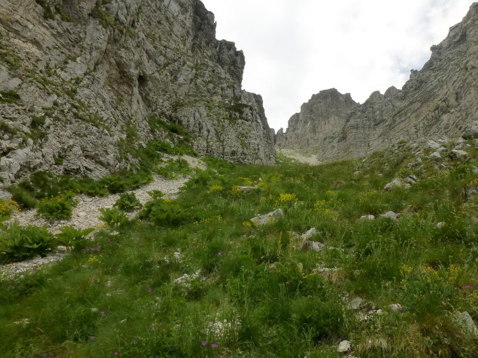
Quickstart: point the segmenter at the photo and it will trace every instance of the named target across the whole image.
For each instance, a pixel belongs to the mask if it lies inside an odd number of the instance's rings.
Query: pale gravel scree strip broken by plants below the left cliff
[[[170,156],[174,157],[174,156]],[[175,158],[175,157],[174,157]],[[182,156],[183,159],[189,163],[192,168],[205,169],[206,165],[202,160],[195,157],[190,157],[188,155]],[[148,192],[151,190],[160,190],[165,193],[165,198],[174,199],[177,194],[179,194],[179,189],[189,180],[189,177],[177,178],[177,179],[166,179],[160,176],[154,176],[153,182],[148,185],[144,185],[138,189],[135,189],[131,192],[135,193],[136,198],[140,203],[144,205],[147,201],[151,200]],[[73,209],[73,217],[69,220],[61,220],[54,223],[43,219],[42,217],[36,217],[36,209],[26,210],[22,212],[16,212],[10,217],[7,224],[17,222],[22,226],[35,225],[35,226],[45,226],[52,233],[58,233],[59,228],[62,226],[73,226],[75,228],[102,228],[104,227],[104,222],[100,221],[100,208],[112,208],[114,203],[119,199],[118,194],[112,194],[106,196],[105,198],[95,197],[91,198],[90,196],[79,195],[75,196],[75,200],[78,201],[78,204]],[[134,217],[139,210],[135,212],[128,213],[130,217]],[[91,234],[90,234],[91,235]],[[10,263],[8,265],[0,266],[0,277],[1,276],[11,276],[13,274],[19,274],[24,272],[34,272],[38,267],[44,265],[45,263],[52,263],[54,261],[61,260],[66,256],[67,252],[64,247],[59,247],[56,251],[48,254],[44,258],[40,256],[32,258],[31,260],[26,260],[20,263]]]

